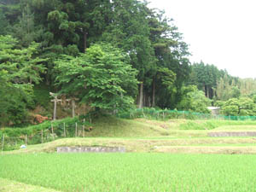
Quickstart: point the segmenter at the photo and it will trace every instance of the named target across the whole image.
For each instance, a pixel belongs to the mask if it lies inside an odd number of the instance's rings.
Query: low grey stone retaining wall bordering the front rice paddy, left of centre
[[[124,147],[57,147],[57,153],[125,153]]]

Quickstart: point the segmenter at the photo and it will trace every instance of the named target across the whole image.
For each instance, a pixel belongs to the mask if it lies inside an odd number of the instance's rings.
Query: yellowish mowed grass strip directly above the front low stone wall
[[[65,138],[54,142],[28,145],[14,151],[5,151],[3,154],[29,154],[29,153],[52,153],[61,146],[123,146],[127,152],[153,152],[158,147],[169,146],[244,146],[255,147],[256,138],[253,137],[142,137],[142,138]],[[164,151],[162,151],[164,152]],[[168,151],[166,151],[168,152]],[[185,151],[183,151],[185,153]]]

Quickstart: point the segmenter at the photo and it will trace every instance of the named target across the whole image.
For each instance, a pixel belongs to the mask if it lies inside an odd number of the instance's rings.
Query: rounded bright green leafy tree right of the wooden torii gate
[[[62,55],[55,65],[60,94],[79,97],[98,112],[124,110],[134,103],[137,70],[110,44],[94,44],[77,57]]]

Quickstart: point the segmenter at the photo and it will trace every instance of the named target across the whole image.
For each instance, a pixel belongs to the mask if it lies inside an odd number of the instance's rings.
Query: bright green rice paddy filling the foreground
[[[62,191],[256,191],[255,155],[1,156],[0,177]]]

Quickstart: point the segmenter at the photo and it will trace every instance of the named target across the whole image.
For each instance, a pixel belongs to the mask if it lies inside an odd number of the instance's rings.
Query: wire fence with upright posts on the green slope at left
[[[45,122],[28,128],[5,128],[0,131],[0,149],[14,150],[22,145],[48,143],[57,138],[84,137],[90,130],[90,121],[78,118]]]

